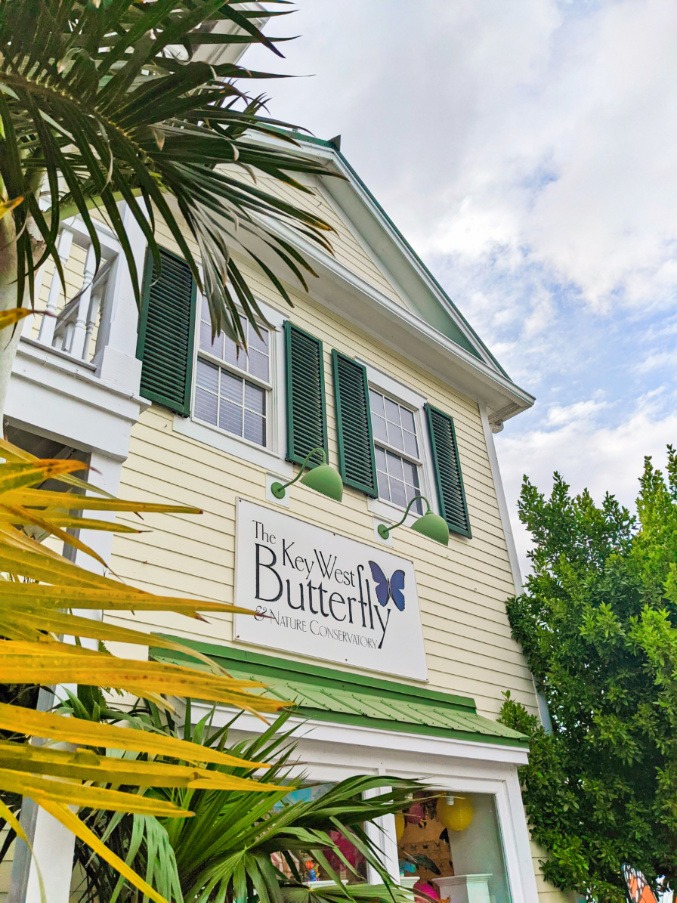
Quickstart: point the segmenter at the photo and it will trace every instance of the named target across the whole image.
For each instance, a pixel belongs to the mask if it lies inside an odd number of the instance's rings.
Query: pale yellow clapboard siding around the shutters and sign
[[[316,212],[341,230],[341,247],[346,253],[356,255],[349,249],[353,241],[359,246],[359,240],[350,233],[340,213],[332,210],[324,195],[312,203],[319,205],[314,208]],[[173,249],[174,243],[161,222],[158,232],[161,243]],[[366,265],[365,253],[359,260],[356,255],[349,265],[367,279],[361,269]],[[366,256],[371,260],[369,254]],[[380,345],[335,311],[318,306],[308,295],[287,285],[295,305],[290,309],[261,274],[244,260],[238,263],[262,301],[324,343],[330,460],[337,460],[332,348],[367,361],[454,418],[472,539],[452,535],[449,547],[444,549],[402,528],[393,534],[392,544],[395,554],[410,558],[416,567],[429,686],[473,696],[481,711],[494,716],[500,709],[502,692],[509,689],[536,711],[533,682],[519,646],[511,638],[505,612],[505,600],[514,594],[514,585],[477,404],[422,368],[412,366],[405,349],[397,353]],[[376,285],[374,281],[370,284]],[[157,592],[231,602],[235,500],[243,497],[273,507],[265,500],[267,469],[247,460],[244,444],[241,457],[227,454],[207,442],[174,432],[173,423],[173,415],[157,406],[141,416],[123,468],[121,494],[195,504],[204,509],[204,514],[145,517],[141,526],[152,531],[137,537],[116,537],[112,566],[124,580]],[[374,536],[378,518],[361,493],[347,490],[343,503],[338,504],[297,485],[289,501],[290,516],[378,547]],[[125,517],[124,522],[135,524],[137,520]],[[231,642],[232,619],[226,614],[210,616],[207,622],[174,616],[144,617],[149,620],[136,620],[149,630]]]

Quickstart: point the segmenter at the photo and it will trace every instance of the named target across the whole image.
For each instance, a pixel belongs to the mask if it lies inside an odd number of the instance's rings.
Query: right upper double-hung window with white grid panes
[[[413,410],[376,389],[369,389],[379,498],[406,508],[421,494],[422,449]],[[420,500],[412,511],[423,513]]]

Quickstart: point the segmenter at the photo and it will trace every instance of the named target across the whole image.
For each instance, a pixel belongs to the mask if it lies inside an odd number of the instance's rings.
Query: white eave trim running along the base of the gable
[[[485,404],[492,422],[507,420],[534,403],[528,392],[379,292],[313,242],[269,218],[265,227],[293,244],[312,262],[319,276],[319,284],[312,280],[309,285],[314,301],[340,313],[394,351],[406,351],[409,360],[466,397]],[[254,246],[256,253],[280,273],[279,258],[270,248],[263,242],[253,242],[253,249]],[[288,281],[293,278],[288,272],[281,275]],[[378,316],[374,316],[375,311]]]

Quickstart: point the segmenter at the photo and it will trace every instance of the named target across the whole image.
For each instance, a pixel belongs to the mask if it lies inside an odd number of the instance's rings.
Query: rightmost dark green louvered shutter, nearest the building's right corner
[[[425,406],[430,445],[435,468],[435,484],[440,503],[440,513],[447,526],[454,533],[470,536],[470,519],[463,489],[461,463],[454,421],[448,414],[438,411],[432,405]]]

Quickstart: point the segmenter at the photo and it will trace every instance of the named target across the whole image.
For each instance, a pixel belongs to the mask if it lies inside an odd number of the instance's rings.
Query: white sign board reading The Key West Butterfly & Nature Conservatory
[[[238,500],[234,638],[426,680],[411,561]]]

